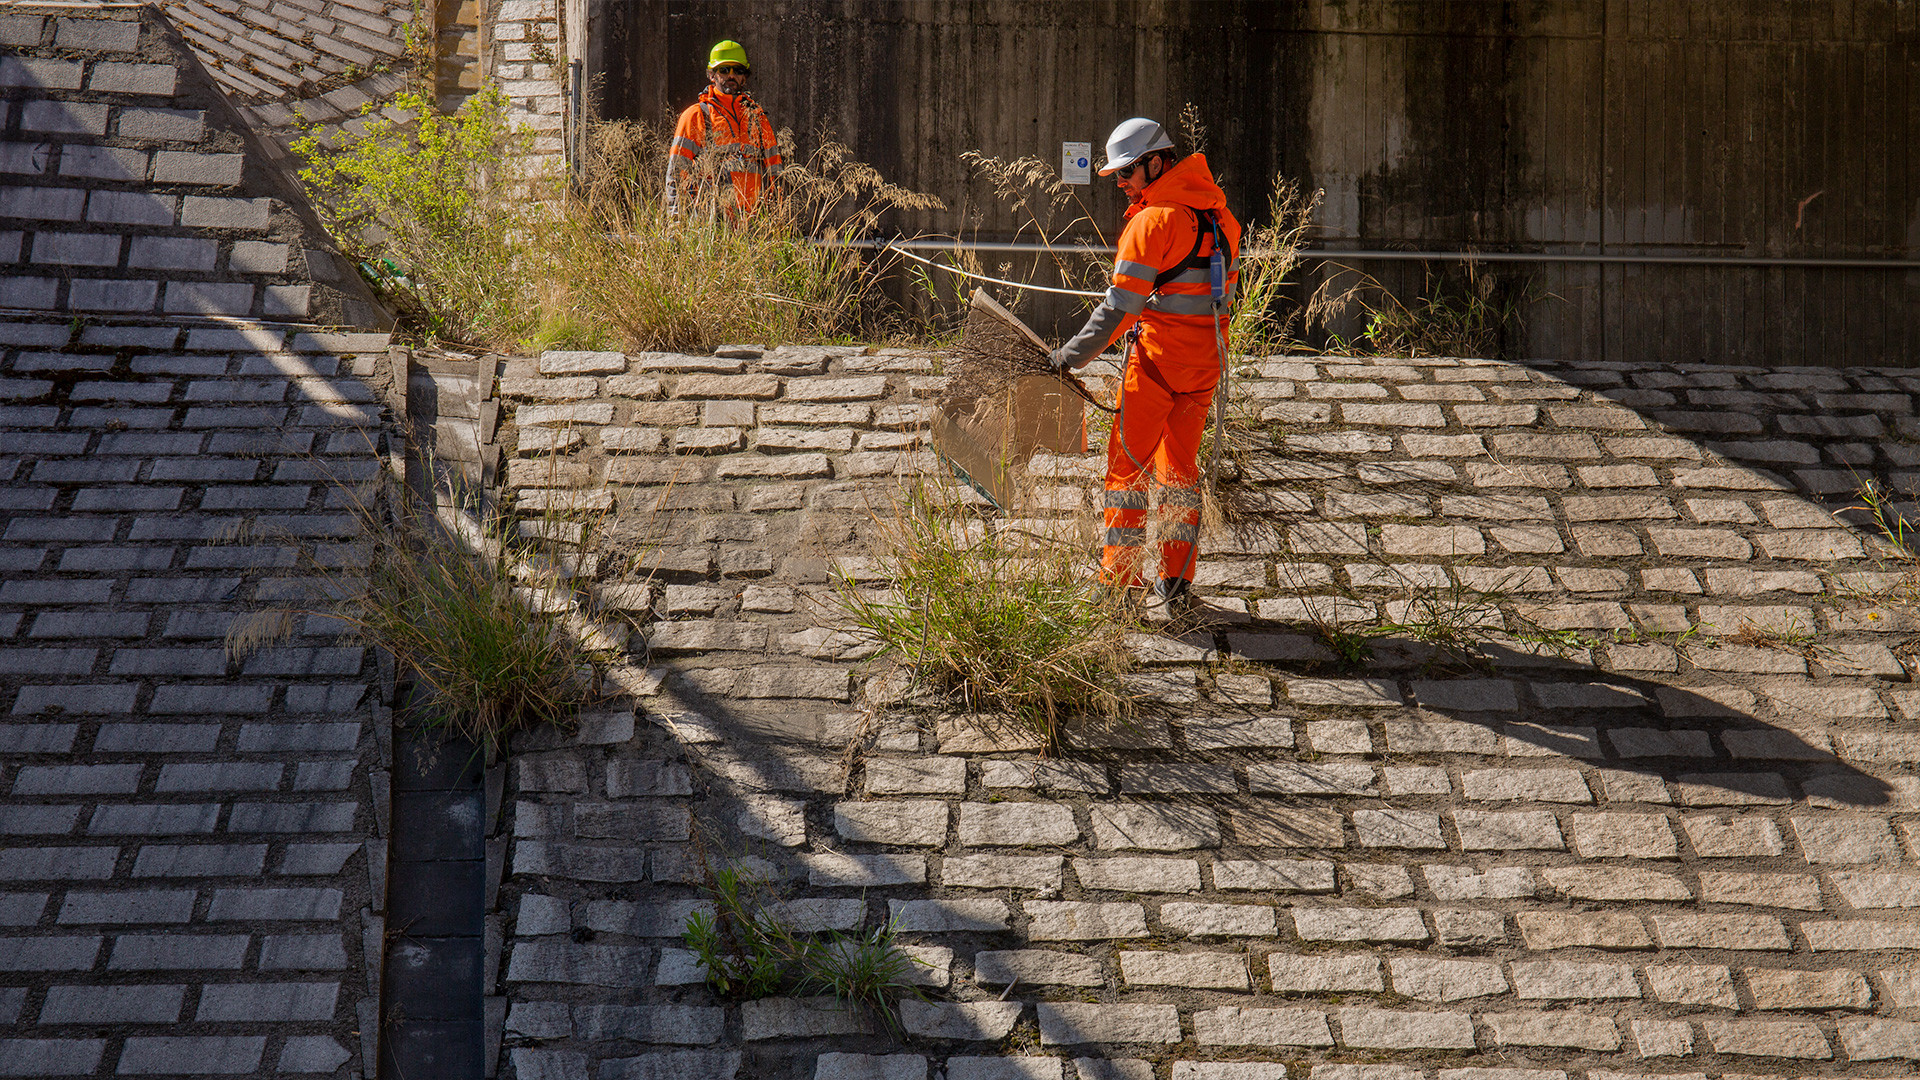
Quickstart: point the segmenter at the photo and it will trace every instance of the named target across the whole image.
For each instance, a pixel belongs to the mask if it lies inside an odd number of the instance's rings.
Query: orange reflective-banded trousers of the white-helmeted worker
[[[1194,577],[1200,540],[1200,436],[1219,365],[1158,363],[1133,348],[1106,442],[1106,548],[1100,580],[1144,588],[1146,482],[1160,480],[1160,577]]]

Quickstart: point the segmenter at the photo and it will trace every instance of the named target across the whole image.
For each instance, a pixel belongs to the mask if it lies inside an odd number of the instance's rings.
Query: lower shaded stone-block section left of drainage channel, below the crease
[[[365,557],[326,477],[380,467],[384,352],[0,321],[0,1074],[371,1074],[374,663],[223,638],[298,603],[298,546]]]

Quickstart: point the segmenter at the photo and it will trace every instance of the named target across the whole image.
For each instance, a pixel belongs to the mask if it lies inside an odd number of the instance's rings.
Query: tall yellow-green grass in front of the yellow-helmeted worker
[[[770,183],[758,211],[728,221],[691,206],[676,221],[662,200],[668,140],[657,129],[593,125],[574,190],[524,175],[528,144],[507,129],[497,92],[474,94],[453,117],[420,98],[397,104],[407,121],[372,115],[338,146],[307,138],[296,148],[328,225],[430,336],[707,352],[883,332],[877,267],[812,240],[864,234],[889,209],[939,206],[824,138]],[[791,133],[781,150],[791,161]],[[720,163],[703,154],[695,175],[714,179]]]

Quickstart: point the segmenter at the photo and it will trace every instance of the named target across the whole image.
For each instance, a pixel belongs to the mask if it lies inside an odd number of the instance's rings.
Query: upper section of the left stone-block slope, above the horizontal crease
[[[390,325],[146,6],[0,13],[0,307]]]

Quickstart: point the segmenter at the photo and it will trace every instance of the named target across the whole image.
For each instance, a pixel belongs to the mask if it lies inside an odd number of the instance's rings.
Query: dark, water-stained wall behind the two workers
[[[906,231],[1014,233],[964,150],[1056,161],[1064,140],[1098,146],[1127,115],[1192,102],[1235,206],[1260,217],[1275,173],[1325,188],[1332,248],[1812,259],[1920,248],[1907,150],[1920,10],[1897,0],[588,0],[588,21],[601,115],[684,108],[707,48],[737,38],[756,96],[803,152],[831,131],[948,202],[899,221]],[[1112,233],[1119,198],[1096,183],[1087,206]],[[1354,265],[1404,296],[1440,271]],[[1517,356],[1920,356],[1912,271],[1488,269],[1532,298],[1505,344]]]

